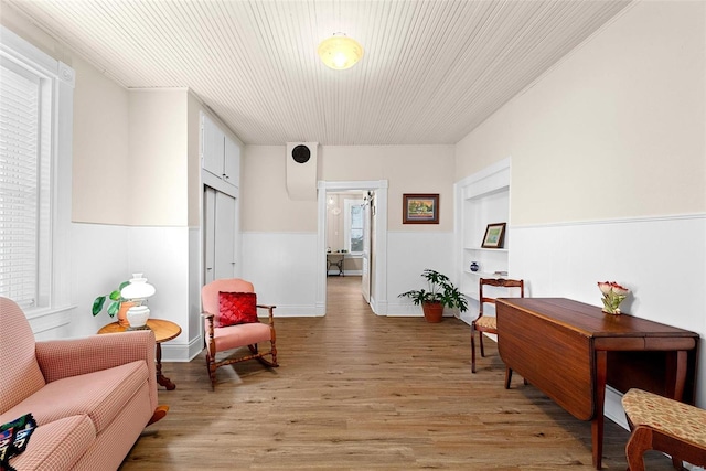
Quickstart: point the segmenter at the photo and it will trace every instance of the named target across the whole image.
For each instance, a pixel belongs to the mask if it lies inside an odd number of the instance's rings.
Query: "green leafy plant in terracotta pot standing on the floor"
[[[398,295],[398,298],[409,298],[416,306],[421,304],[427,322],[441,322],[443,308],[458,308],[460,312],[468,310],[466,297],[449,277],[429,268],[421,272],[421,277],[427,280],[428,290],[409,290]]]

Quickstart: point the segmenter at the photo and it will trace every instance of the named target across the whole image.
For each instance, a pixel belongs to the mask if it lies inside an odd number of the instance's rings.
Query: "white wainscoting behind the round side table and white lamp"
[[[189,361],[197,354],[200,332],[193,327],[200,312],[190,313],[190,232],[188,227],[73,224],[72,298],[76,309],[71,314],[69,335],[57,336],[90,335],[115,321],[105,311],[94,318],[93,300],[117,289],[132,272],[142,272],[157,289],[148,301],[151,315],[182,328],[180,336],[163,345],[163,361]]]

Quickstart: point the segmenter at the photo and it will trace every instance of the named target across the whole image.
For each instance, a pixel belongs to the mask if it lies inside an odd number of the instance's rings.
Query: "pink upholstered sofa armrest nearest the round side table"
[[[36,361],[47,383],[145,361],[150,374],[150,387],[153,383],[157,394],[154,333],[150,330],[42,341],[36,342],[35,349]]]

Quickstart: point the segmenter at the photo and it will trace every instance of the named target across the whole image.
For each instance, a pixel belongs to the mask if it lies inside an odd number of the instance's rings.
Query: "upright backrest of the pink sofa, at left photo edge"
[[[0,297],[0,414],[20,404],[44,386],[44,376],[34,356],[34,334],[20,307]],[[12,417],[0,424],[20,417]]]

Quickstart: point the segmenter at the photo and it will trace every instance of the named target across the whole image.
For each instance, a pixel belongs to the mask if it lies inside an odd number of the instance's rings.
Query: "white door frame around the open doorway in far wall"
[[[317,237],[317,264],[322,269],[317,270],[317,313],[325,314],[328,267],[327,249],[329,240],[328,229],[328,194],[359,191],[363,194],[374,194],[374,210],[370,213],[372,224],[370,225],[370,246],[367,247],[367,265],[363,261],[361,268],[361,282],[363,274],[366,277],[367,288],[363,295],[370,303],[371,309],[377,315],[387,313],[387,181],[352,181],[352,182],[319,182],[318,195],[318,237]],[[374,251],[374,256],[371,256]],[[363,288],[362,288],[363,292]]]

